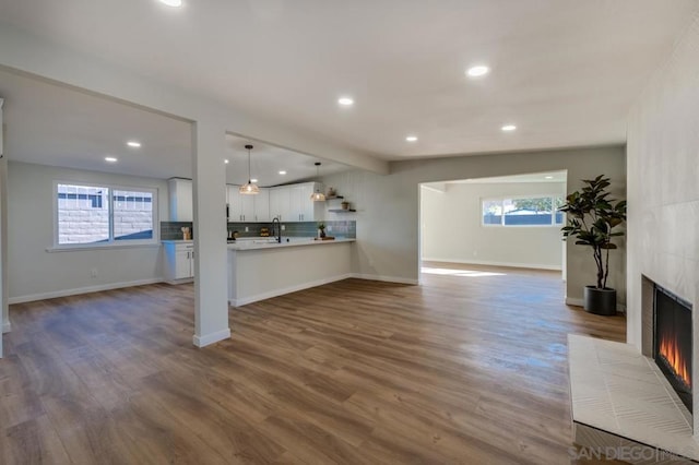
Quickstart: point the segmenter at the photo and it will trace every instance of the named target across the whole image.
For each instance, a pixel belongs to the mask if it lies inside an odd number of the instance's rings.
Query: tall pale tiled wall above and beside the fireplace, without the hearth
[[[698,57],[696,20],[630,112],[627,337],[639,349],[643,275],[694,303],[699,337]]]

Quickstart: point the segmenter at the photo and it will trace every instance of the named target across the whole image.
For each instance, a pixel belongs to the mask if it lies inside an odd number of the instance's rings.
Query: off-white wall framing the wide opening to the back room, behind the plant
[[[391,163],[391,172],[380,176],[350,171],[323,179],[325,186],[353,203],[356,214],[328,213],[327,219],[356,219],[356,273],[367,277],[417,283],[419,237],[419,183],[488,178],[525,172],[568,170],[568,192],[582,187],[580,180],[600,174],[609,176],[613,194],[625,198],[624,147],[599,147],[546,152],[461,156]],[[582,299],[582,289],[594,284],[595,265],[587,248],[567,243],[569,299]],[[625,247],[611,259],[609,285],[625,302]]]

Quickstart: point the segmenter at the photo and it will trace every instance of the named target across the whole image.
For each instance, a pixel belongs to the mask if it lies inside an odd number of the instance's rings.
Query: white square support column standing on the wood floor
[[[230,337],[226,265],[225,130],[192,124],[194,201],[194,345]]]

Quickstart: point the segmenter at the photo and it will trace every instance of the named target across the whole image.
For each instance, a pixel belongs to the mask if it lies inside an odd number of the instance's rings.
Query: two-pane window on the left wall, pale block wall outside
[[[58,246],[155,242],[156,191],[56,183]]]

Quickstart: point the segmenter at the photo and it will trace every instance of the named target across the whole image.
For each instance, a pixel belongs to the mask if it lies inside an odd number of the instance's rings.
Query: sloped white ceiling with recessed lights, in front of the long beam
[[[0,2],[0,22],[384,159],[624,143],[698,15],[697,0]],[[491,73],[467,80],[474,63]]]

